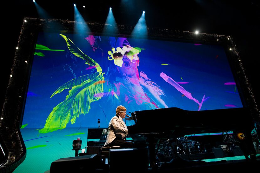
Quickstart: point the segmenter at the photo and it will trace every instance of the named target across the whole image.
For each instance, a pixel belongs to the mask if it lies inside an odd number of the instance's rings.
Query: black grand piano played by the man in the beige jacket
[[[128,133],[142,134],[148,138],[150,164],[156,167],[155,139],[186,134],[214,132],[251,133],[254,123],[248,108],[231,108],[205,111],[186,111],[180,108],[162,108],[132,113],[135,124]]]

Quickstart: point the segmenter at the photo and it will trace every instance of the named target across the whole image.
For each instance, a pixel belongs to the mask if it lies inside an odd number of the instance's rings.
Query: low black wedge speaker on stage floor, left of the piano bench
[[[95,172],[102,168],[98,155],[83,155],[55,160],[50,165],[50,173],[56,172]]]

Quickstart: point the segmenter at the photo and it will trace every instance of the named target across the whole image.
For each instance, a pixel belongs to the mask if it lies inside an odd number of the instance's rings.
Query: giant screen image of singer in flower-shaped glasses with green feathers
[[[243,107],[220,45],[39,33],[21,129],[27,157],[14,172],[36,162],[34,152],[47,158],[41,172],[73,157],[72,140],[86,145],[87,128],[97,119],[107,128],[118,105],[127,113]]]

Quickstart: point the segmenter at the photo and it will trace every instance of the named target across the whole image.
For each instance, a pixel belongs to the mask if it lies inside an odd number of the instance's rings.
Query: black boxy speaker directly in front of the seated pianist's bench
[[[110,172],[146,172],[148,170],[147,148],[110,149]]]

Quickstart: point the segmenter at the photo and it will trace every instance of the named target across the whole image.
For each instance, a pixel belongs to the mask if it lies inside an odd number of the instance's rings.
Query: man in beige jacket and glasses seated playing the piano
[[[126,141],[128,130],[123,121],[125,117],[126,108],[121,105],[117,106],[116,116],[109,122],[107,141],[104,147],[120,146],[121,148],[133,148],[133,142]]]

